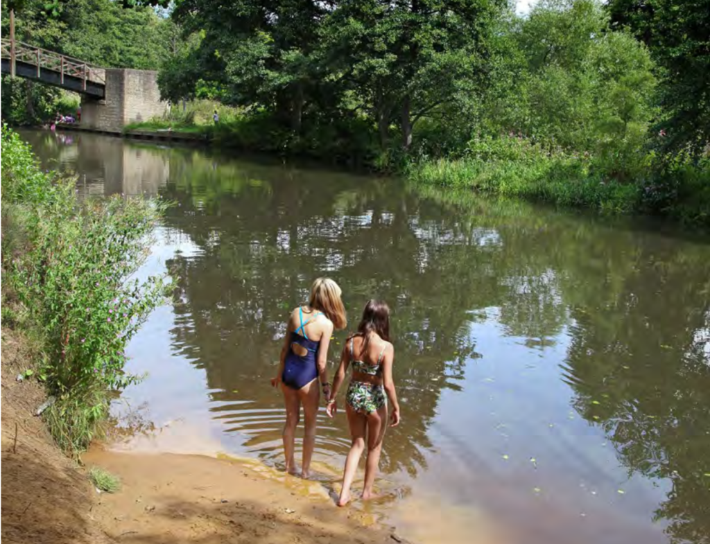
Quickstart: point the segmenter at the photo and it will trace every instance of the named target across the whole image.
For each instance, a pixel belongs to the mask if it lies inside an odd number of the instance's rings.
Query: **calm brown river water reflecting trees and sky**
[[[269,379],[288,311],[328,275],[350,326],[371,297],[393,309],[403,423],[385,441],[385,497],[354,508],[422,543],[710,543],[707,238],[207,150],[22,134],[88,194],[176,203],[141,270],[169,271],[175,295],[129,346],[129,370],[148,374],[116,402],[116,448],[278,469]],[[322,413],[312,487],[339,481],[348,447],[344,416]]]

